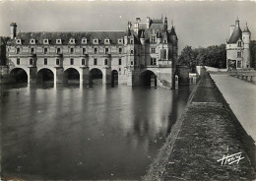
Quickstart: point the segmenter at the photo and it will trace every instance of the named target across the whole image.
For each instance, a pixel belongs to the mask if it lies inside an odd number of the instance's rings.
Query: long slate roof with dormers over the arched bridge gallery
[[[19,32],[17,38],[21,38],[23,44],[30,44],[30,39],[34,38],[36,44],[42,44],[44,38],[49,39],[49,44],[55,45],[56,39],[61,39],[62,44],[68,44],[70,38],[75,38],[76,45],[80,45],[82,38],[86,37],[88,44],[93,42],[93,39],[98,38],[99,44],[104,43],[105,38],[109,38],[110,42],[117,43],[118,38],[123,38],[126,35],[125,31],[84,31],[84,32]],[[11,39],[8,44],[15,44],[15,39]]]

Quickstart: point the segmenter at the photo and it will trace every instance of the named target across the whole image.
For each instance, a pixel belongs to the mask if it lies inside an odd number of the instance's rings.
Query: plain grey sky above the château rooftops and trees
[[[186,45],[207,47],[225,43],[229,26],[247,22],[256,39],[256,2],[249,1],[0,1],[0,35],[10,35],[10,23],[18,31],[127,30],[137,17],[171,21],[179,40]]]

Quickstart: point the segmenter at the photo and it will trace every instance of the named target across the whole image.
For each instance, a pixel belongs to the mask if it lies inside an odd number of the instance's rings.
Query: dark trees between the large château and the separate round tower
[[[191,46],[186,46],[181,51],[178,61],[181,65],[189,66],[192,72],[195,71],[197,65],[225,68],[225,45],[213,45],[207,48],[199,47],[194,49]]]

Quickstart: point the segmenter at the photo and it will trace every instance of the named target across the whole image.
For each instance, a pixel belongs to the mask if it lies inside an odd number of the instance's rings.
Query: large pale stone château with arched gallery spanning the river
[[[127,31],[19,32],[12,23],[7,43],[10,79],[23,71],[28,83],[43,81],[52,74],[54,83],[68,82],[77,72],[81,83],[90,83],[100,72],[103,84],[155,85],[171,88],[178,52],[174,27],[167,18],[134,24]]]

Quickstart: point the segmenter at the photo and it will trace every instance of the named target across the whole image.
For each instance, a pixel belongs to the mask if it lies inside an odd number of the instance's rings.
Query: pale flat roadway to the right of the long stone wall
[[[256,141],[256,86],[228,75],[211,77],[247,134]]]

